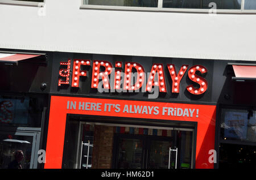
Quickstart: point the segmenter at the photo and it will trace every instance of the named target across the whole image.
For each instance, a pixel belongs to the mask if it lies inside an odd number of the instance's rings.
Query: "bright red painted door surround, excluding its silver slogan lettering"
[[[68,101],[76,102],[76,109],[67,108]],[[96,110],[79,110],[79,102],[100,103],[101,111]],[[119,104],[120,111],[112,108],[108,112],[108,106],[104,111],[105,104]],[[70,104],[69,104],[70,105]],[[141,105],[141,106],[157,106],[159,114],[135,114],[123,112],[125,105]],[[190,108],[195,109],[193,117],[170,116],[167,112],[163,115],[164,107],[170,108]],[[196,112],[198,109],[198,116]],[[115,111],[116,110],[116,111]],[[130,100],[112,100],[102,98],[83,98],[83,97],[63,97],[52,96],[51,107],[49,112],[48,136],[46,147],[46,164],[44,168],[61,168],[65,125],[67,114],[82,114],[82,115],[102,115],[109,117],[127,117],[127,118],[146,118],[146,119],[164,119],[172,121],[192,121],[197,122],[197,137],[196,137],[196,168],[213,168],[213,163],[208,161],[209,150],[214,149],[215,123],[216,123],[216,106],[215,105],[193,105],[193,104],[176,104],[167,102],[148,102],[148,101],[130,101]]]

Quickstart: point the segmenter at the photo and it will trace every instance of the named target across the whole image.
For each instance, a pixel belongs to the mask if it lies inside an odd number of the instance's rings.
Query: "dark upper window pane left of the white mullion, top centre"
[[[84,5],[158,7],[158,0],[84,0]]]

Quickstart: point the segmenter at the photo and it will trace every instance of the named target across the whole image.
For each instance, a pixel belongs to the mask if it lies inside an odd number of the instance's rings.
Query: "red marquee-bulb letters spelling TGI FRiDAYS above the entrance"
[[[65,78],[65,80],[60,78],[58,85],[67,85],[70,83],[71,59],[68,59],[68,62],[60,62],[60,65],[65,66],[65,68],[61,68],[59,71],[59,75]],[[123,71],[122,62],[118,61],[115,62],[115,68],[113,68],[113,65],[108,61],[93,61],[91,65],[90,60],[74,59],[71,84],[74,88],[79,88],[80,76],[87,76],[87,71],[81,70],[81,66],[92,67],[91,88],[97,89],[102,85],[104,89],[114,89],[115,91],[122,88],[124,91],[142,89],[144,92],[151,92],[152,87],[154,87],[159,88],[159,92],[167,92],[164,67],[161,63],[152,64],[151,71],[148,72],[148,76],[146,76],[143,66],[135,62],[126,62]],[[193,84],[190,84],[187,86],[187,91],[193,95],[201,95],[207,91],[207,80],[196,74],[197,71],[201,74],[205,74],[207,68],[204,66],[195,65],[189,67],[188,65],[182,65],[179,72],[176,71],[174,64],[167,64],[167,67],[168,74],[170,74],[172,79],[172,93],[180,92],[180,81],[187,71],[188,78],[199,85],[199,87],[195,88]],[[114,80],[110,82],[109,75],[111,75],[112,72],[114,72]],[[135,82],[133,83],[134,79]],[[100,82],[102,84],[100,84]],[[111,85],[111,83],[113,84]],[[143,87],[144,83],[146,83],[145,87]]]

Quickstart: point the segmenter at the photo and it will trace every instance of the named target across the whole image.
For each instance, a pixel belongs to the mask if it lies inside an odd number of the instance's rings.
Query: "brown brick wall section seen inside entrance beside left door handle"
[[[93,169],[110,169],[112,168],[112,151],[114,140],[113,126],[94,127],[94,145],[92,155]]]

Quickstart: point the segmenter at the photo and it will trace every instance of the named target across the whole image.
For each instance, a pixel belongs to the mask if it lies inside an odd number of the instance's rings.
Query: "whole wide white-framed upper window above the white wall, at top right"
[[[1,0],[0,0],[1,1]],[[145,11],[256,12],[255,0],[82,0],[81,8]]]

